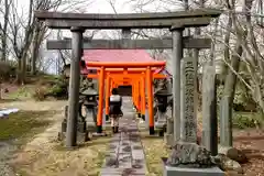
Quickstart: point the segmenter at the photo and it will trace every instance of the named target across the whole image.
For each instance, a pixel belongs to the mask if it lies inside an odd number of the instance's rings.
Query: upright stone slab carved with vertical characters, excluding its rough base
[[[195,117],[195,63],[191,57],[182,61],[182,140],[185,142],[197,142],[197,121]]]

